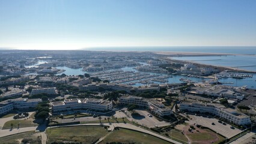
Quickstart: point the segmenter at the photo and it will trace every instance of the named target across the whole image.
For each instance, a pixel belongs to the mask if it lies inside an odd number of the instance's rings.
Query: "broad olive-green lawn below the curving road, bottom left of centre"
[[[46,130],[47,143],[63,141],[66,143],[94,143],[107,133],[109,132],[100,126],[59,127]]]

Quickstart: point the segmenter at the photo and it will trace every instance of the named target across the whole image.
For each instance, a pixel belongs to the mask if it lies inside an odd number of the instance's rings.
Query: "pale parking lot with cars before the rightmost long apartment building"
[[[204,118],[203,116],[195,116],[195,115],[189,115],[189,117],[192,118],[189,120],[189,124],[198,124],[204,127],[208,127],[213,131],[215,131],[216,133],[219,133],[222,136],[225,136],[227,138],[231,138],[242,132],[237,128],[231,129],[230,124],[223,125],[219,123],[218,119],[215,119],[215,118]],[[212,123],[215,123],[215,125],[212,125]]]

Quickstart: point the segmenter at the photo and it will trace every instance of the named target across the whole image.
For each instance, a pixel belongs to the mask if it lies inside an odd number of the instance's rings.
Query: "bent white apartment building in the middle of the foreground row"
[[[171,115],[172,111],[168,107],[165,107],[159,101],[150,98],[123,96],[119,98],[120,104],[136,104],[138,106],[147,107],[151,112],[156,113],[159,116]]]

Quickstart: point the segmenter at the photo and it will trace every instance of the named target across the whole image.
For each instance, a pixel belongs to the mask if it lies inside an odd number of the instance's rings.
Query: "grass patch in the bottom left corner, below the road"
[[[11,144],[17,143],[18,144],[18,143],[20,143],[20,141],[22,139],[29,138],[30,143],[35,143],[35,144],[41,143],[41,136],[35,136],[34,134],[35,134],[34,131],[28,131],[25,133],[13,134],[11,136],[0,137],[0,142],[2,144],[7,144],[7,143],[11,143]]]

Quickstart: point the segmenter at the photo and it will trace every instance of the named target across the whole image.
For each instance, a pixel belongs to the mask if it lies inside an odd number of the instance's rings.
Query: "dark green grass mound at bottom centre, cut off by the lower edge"
[[[145,144],[167,144],[165,140],[159,139],[157,137],[139,133],[138,131],[126,130],[123,128],[119,128],[119,130],[112,131],[109,136],[101,142],[103,143],[111,143],[111,142],[121,142],[121,143],[145,143]]]

